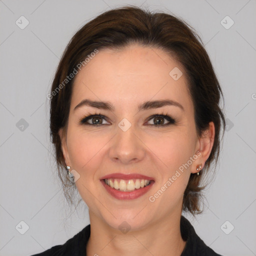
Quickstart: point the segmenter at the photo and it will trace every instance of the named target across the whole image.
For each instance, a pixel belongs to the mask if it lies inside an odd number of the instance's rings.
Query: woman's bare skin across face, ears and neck
[[[174,67],[183,72],[178,80],[169,75]],[[180,255],[185,246],[179,229],[183,193],[190,173],[197,172],[198,164],[203,168],[214,139],[212,122],[201,137],[196,134],[184,68],[161,49],[132,44],[100,50],[76,75],[73,86],[67,129],[60,129],[59,135],[65,163],[79,173],[75,184],[89,209],[87,255]],[[73,110],[85,98],[108,101],[115,110],[86,105]],[[175,100],[183,110],[166,105],[137,111],[140,103],[160,99]],[[101,126],[79,124],[88,111],[107,119],[100,119]],[[157,120],[148,120],[162,111],[175,123],[156,127]],[[123,118],[131,123],[125,132],[118,127]],[[150,202],[149,196],[197,151],[200,156]],[[139,198],[118,200],[99,181],[114,172],[144,174],[155,183]],[[118,228],[123,221],[130,226],[127,233]]]

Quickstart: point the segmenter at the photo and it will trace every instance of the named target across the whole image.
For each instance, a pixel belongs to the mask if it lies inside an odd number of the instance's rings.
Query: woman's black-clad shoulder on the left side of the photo
[[[86,251],[86,244],[90,236],[90,224],[68,239],[65,243],[52,246],[51,248],[31,256],[78,256]]]

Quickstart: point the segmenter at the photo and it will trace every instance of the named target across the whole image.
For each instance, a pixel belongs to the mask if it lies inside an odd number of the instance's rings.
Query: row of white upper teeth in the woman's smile
[[[110,187],[117,189],[119,191],[133,191],[139,189],[140,187],[147,186],[150,183],[148,179],[115,179],[108,178],[104,179],[105,183]]]

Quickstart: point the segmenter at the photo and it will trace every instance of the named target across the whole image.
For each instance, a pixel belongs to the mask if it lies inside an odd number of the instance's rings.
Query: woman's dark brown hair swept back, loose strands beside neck
[[[215,126],[215,137],[211,153],[205,162],[204,169],[190,174],[183,195],[183,211],[193,215],[200,210],[201,176],[208,171],[209,164],[217,161],[220,148],[221,122],[225,119],[219,107],[222,96],[217,77],[209,56],[203,47],[200,37],[185,21],[162,12],[150,12],[135,6],[124,6],[106,11],[85,25],[71,38],[66,46],[52,82],[50,94],[50,135],[54,145],[55,157],[64,194],[72,203],[70,187],[67,185],[65,162],[61,150],[58,131],[66,128],[74,78],[63,81],[74,72],[79,63],[84,63],[86,56],[101,48],[122,48],[130,43],[156,47],[175,57],[184,67],[188,89],[194,105],[194,119],[197,135],[202,135],[210,121]],[[66,81],[66,80],[65,80]],[[62,86],[60,86],[62,84]],[[54,93],[55,92],[55,93]]]

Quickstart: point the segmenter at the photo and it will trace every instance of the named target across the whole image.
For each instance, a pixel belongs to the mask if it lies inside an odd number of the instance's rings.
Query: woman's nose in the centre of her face
[[[109,157],[123,164],[135,163],[145,156],[145,144],[139,133],[131,125],[126,131],[117,128],[117,133],[111,140]]]

